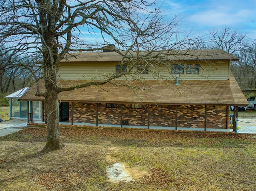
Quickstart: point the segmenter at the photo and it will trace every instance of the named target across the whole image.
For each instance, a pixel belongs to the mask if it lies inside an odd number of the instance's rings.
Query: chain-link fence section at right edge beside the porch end
[[[238,120],[237,132],[244,134],[256,134],[256,119]]]

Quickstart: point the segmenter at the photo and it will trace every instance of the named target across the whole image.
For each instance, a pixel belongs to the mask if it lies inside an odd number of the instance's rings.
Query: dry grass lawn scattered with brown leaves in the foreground
[[[255,191],[256,136],[61,129],[63,150],[38,154],[45,129],[0,138],[1,191]],[[110,183],[120,162],[135,181]],[[135,173],[136,172],[136,173]]]

